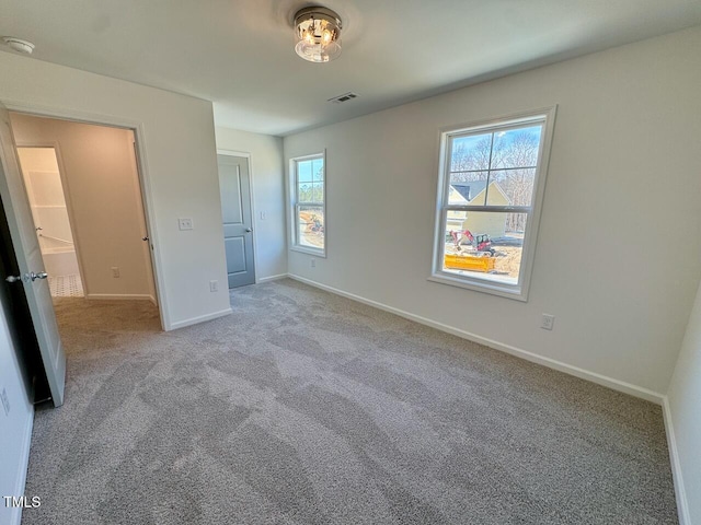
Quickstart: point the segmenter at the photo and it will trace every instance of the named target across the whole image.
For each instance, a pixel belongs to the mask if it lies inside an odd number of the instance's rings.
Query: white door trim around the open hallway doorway
[[[103,115],[79,109],[64,109],[53,106],[43,106],[38,104],[26,104],[16,101],[0,98],[9,112],[23,113],[35,117],[56,118],[59,120],[69,120],[81,124],[92,124],[96,126],[105,126],[112,128],[126,128],[134,131],[134,140],[136,142],[136,165],[141,187],[141,200],[143,202],[143,214],[146,219],[146,228],[148,230],[149,244],[151,246],[151,269],[153,271],[153,281],[156,285],[156,295],[158,299],[158,311],[161,319],[161,329],[165,330],[171,326],[171,316],[169,303],[165,298],[165,283],[161,268],[163,267],[163,257],[159,248],[159,233],[157,229],[154,203],[152,196],[151,176],[148,166],[148,155],[146,148],[146,129],[140,120],[116,117],[114,115]],[[18,144],[19,145],[19,144]],[[250,163],[249,163],[250,165]],[[59,165],[60,167],[60,165]]]

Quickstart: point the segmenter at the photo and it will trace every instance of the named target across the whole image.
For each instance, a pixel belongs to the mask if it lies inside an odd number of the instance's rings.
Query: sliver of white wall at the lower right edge
[[[675,453],[678,460],[678,465],[673,465],[680,475],[675,481],[683,487],[688,505],[682,510],[688,513],[686,525],[701,524],[701,285],[667,398],[668,424],[673,429],[669,434],[675,440],[670,443],[673,462]]]

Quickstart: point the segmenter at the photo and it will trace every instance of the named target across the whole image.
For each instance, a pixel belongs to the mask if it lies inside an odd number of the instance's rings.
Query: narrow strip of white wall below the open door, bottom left
[[[3,495],[24,495],[34,407],[28,401],[8,330],[5,304],[0,306],[0,394],[4,389],[10,405],[10,411],[5,415],[0,402],[0,466],[2,467],[0,468],[0,498],[2,498]],[[0,523],[19,524],[21,512],[21,509],[5,508],[4,500],[0,499]]]

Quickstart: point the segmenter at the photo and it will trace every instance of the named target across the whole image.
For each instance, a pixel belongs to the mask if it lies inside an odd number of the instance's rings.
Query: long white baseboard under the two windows
[[[342,295],[344,298],[352,299],[359,303],[364,303],[369,306],[375,306],[376,308],[383,310],[384,312],[399,315],[400,317],[404,317],[405,319],[414,320],[418,324],[430,326],[432,328],[436,328],[438,330],[452,334],[453,336],[468,339],[472,342],[478,342],[480,345],[484,345],[485,347],[490,347],[495,350],[501,350],[512,355],[516,355],[517,358],[521,358],[533,363],[542,364],[543,366],[548,366],[549,369],[558,370],[560,372],[564,372],[565,374],[574,375],[575,377],[590,381],[593,383],[597,383],[599,385],[606,386],[608,388],[612,388],[618,392],[622,392],[624,394],[629,394],[634,397],[640,397],[641,399],[652,401],[656,405],[662,405],[665,399],[665,396],[663,394],[659,394],[658,392],[650,390],[641,386],[636,386],[630,383],[625,383],[623,381],[614,380],[612,377],[608,377],[606,375],[598,374],[596,372],[589,372],[588,370],[584,370],[578,366],[563,363],[561,361],[556,361],[551,358],[538,355],[537,353],[529,352],[528,350],[513,347],[510,345],[505,345],[503,342],[495,341],[486,337],[478,336],[476,334],[472,334],[470,331],[462,330],[453,326],[445,325],[443,323],[438,323],[436,320],[428,319],[420,315],[411,314],[409,312],[404,312],[403,310],[395,308],[393,306],[388,306],[387,304],[378,303],[377,301],[365,299],[354,293],[345,292],[343,290],[338,290],[333,287],[327,287],[326,284],[321,284],[319,282],[311,281],[303,277],[295,276],[292,273],[288,275],[287,277],[289,277],[290,279],[295,279],[296,281],[303,282],[304,284],[309,284],[311,287],[320,288],[321,290],[335,293],[336,295]]]

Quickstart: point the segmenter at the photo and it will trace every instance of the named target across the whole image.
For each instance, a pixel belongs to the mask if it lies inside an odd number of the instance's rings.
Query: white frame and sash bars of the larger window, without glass
[[[450,284],[453,287],[491,293],[503,298],[528,301],[528,290],[532,273],[533,259],[536,256],[536,242],[540,225],[540,214],[542,200],[545,192],[545,178],[548,175],[548,164],[550,161],[550,149],[555,122],[555,112],[558,106],[524,112],[490,120],[470,122],[460,126],[451,126],[440,129],[440,160],[438,172],[438,190],[436,200],[436,226],[434,232],[434,254],[432,275],[429,281]],[[533,199],[531,206],[457,206],[449,205],[450,190],[450,160],[452,155],[452,139],[473,133],[484,133],[499,130],[502,128],[513,128],[527,124],[543,122],[540,149],[538,152],[538,163],[533,182]],[[485,203],[486,205],[486,203]],[[445,225],[448,211],[505,211],[513,213],[527,213],[526,232],[524,236],[524,248],[521,252],[521,265],[519,268],[518,282],[516,284],[498,282],[480,277],[479,275],[459,275],[444,270],[445,256]],[[478,232],[475,232],[478,233]]]

